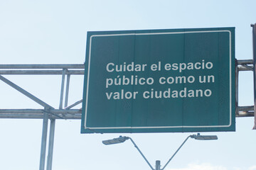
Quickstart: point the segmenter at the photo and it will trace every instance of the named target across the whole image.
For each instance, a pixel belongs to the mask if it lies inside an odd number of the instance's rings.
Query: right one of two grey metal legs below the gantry
[[[53,143],[54,143],[55,119],[50,119],[50,135],[46,170],[52,169],[53,164]]]

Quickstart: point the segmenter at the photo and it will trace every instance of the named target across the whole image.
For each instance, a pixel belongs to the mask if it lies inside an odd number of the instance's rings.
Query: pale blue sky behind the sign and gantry
[[[87,31],[235,27],[235,58],[252,59],[256,1],[0,1],[0,64],[83,64]],[[4,76],[58,108],[60,76]],[[82,99],[83,77],[73,76],[69,104]],[[239,106],[252,106],[252,72],[240,72]],[[0,81],[0,109],[42,108]],[[81,108],[77,106],[76,108]],[[132,142],[102,145],[119,135],[132,137],[152,166],[162,167],[185,133],[80,134],[80,120],[57,120],[53,169],[149,169]],[[218,140],[189,139],[168,170],[255,170],[254,118],[236,118],[235,132],[203,132]],[[0,169],[39,168],[43,120],[0,119]]]

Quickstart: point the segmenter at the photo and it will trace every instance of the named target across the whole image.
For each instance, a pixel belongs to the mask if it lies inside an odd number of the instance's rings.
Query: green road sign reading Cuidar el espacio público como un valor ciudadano
[[[235,28],[87,33],[82,133],[235,130]]]

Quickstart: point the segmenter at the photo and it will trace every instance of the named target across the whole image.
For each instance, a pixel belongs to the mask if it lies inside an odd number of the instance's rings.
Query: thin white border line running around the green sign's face
[[[230,123],[228,125],[203,125],[203,126],[147,126],[147,127],[97,127],[91,128],[86,126],[87,122],[87,103],[88,103],[88,91],[89,91],[89,79],[90,79],[90,57],[91,57],[91,45],[92,38],[94,37],[112,37],[112,36],[129,36],[129,35],[170,35],[170,34],[187,34],[187,33],[221,33],[228,32],[229,33],[229,45],[230,45],[230,59],[229,59],[229,67],[230,67]],[[89,57],[88,57],[88,72],[87,72],[87,87],[86,87],[86,102],[85,102],[85,129],[91,130],[107,130],[107,129],[160,129],[160,128],[228,128],[232,123],[232,50],[231,50],[231,31],[230,30],[203,30],[203,31],[183,31],[183,32],[171,32],[171,33],[124,33],[124,34],[106,34],[106,35],[92,35],[90,36],[90,44],[89,44]]]

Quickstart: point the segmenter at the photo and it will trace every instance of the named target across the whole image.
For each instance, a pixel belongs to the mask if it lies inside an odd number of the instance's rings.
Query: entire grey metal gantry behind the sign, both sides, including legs
[[[254,116],[254,106],[238,106],[238,74],[241,71],[253,71],[252,60],[237,60],[235,67],[236,82],[236,117]],[[0,80],[8,84],[21,94],[31,98],[43,108],[38,109],[4,109],[0,108],[0,118],[26,118],[26,119],[43,119],[43,132],[41,141],[41,159],[40,170],[45,169],[46,165],[46,145],[48,133],[48,120],[50,120],[50,135],[48,141],[48,159],[47,170],[52,169],[53,161],[53,142],[56,119],[81,119],[81,109],[74,109],[82,103],[82,98],[68,106],[69,86],[71,75],[81,75],[85,73],[84,64],[0,64]],[[59,108],[53,108],[48,103],[37,98],[17,84],[14,84],[5,75],[58,75],[61,76],[60,88],[60,105]],[[252,77],[253,78],[253,77]],[[80,84],[83,86],[83,84]],[[65,90],[64,90],[65,89]],[[82,94],[82,91],[81,91]],[[65,97],[64,97],[65,96]]]

